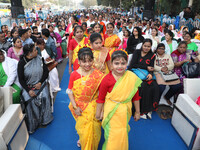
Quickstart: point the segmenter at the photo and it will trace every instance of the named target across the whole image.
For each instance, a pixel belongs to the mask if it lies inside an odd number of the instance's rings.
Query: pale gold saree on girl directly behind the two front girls
[[[94,65],[93,67],[104,73],[105,75],[109,73],[108,65],[105,62],[108,55],[108,49],[102,47],[101,50],[93,51],[94,55]]]

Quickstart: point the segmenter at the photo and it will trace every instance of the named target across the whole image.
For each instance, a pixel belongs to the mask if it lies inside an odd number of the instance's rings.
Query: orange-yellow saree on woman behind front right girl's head
[[[112,53],[115,51],[115,49],[119,47],[120,43],[121,43],[120,38],[116,34],[114,34],[112,36],[106,37],[104,47],[110,49],[109,54],[111,56]]]

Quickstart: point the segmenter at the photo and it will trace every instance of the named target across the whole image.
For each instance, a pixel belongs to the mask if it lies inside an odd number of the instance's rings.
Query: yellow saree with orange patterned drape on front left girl
[[[90,75],[82,77],[73,84],[73,94],[78,107],[82,109],[77,116],[72,104],[69,109],[76,120],[76,130],[79,135],[82,150],[97,150],[101,138],[101,122],[95,118],[98,87],[104,75],[94,70]]]

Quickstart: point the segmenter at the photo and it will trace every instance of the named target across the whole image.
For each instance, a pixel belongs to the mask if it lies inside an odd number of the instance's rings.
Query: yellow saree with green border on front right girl
[[[128,150],[132,98],[141,83],[142,80],[134,73],[126,71],[116,82],[112,92],[107,93],[102,121],[105,136],[103,150]]]

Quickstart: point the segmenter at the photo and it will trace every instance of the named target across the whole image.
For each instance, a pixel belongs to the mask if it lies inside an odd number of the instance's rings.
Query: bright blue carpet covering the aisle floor
[[[30,135],[26,150],[78,150],[78,135],[75,121],[68,109],[70,102],[66,89],[68,87],[68,65],[61,81],[61,91],[54,104],[54,120],[46,128],[39,128]],[[135,122],[130,120],[130,150],[187,150],[185,143],[171,126],[171,120],[161,120],[154,112],[152,120]],[[99,150],[103,144],[103,135]],[[80,150],[80,149],[79,149]]]

